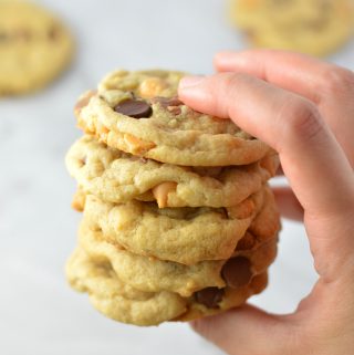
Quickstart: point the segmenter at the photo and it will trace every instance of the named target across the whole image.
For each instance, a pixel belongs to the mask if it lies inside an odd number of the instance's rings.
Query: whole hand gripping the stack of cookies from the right
[[[231,118],[278,150],[290,188],[281,212],[304,222],[319,280],[292,314],[251,305],[195,321],[233,355],[351,355],[354,349],[354,74],[290,52],[215,58],[217,74],[188,76],[179,97]]]

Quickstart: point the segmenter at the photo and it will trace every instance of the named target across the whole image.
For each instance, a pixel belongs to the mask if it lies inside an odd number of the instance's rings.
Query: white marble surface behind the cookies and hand
[[[138,328],[106,320],[65,283],[80,216],[63,157],[75,137],[72,106],[114,67],[212,71],[211,58],[242,42],[220,0],[42,1],[77,40],[72,69],[33,96],[0,101],[0,354],[217,355],[186,324]],[[332,58],[354,65],[354,45]],[[315,281],[302,226],[284,222],[271,285],[252,302],[291,312]]]

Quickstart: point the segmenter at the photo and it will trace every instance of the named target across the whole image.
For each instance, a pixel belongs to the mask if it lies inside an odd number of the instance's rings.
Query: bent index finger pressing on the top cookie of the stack
[[[352,169],[310,101],[236,73],[187,77],[178,93],[195,109],[230,117],[278,150],[290,185],[306,211],[326,216],[352,208]]]

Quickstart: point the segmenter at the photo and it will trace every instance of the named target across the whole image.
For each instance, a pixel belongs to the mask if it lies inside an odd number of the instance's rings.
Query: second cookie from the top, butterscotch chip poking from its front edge
[[[107,202],[157,200],[164,207],[229,207],[240,203],[275,175],[279,158],[263,157],[249,166],[181,167],[138,158],[80,138],[66,155],[79,186]]]

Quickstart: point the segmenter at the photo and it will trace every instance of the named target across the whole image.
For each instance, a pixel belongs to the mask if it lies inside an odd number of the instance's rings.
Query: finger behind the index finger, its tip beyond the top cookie
[[[219,72],[254,75],[316,104],[354,167],[354,73],[304,54],[274,50],[223,52],[215,56]]]

